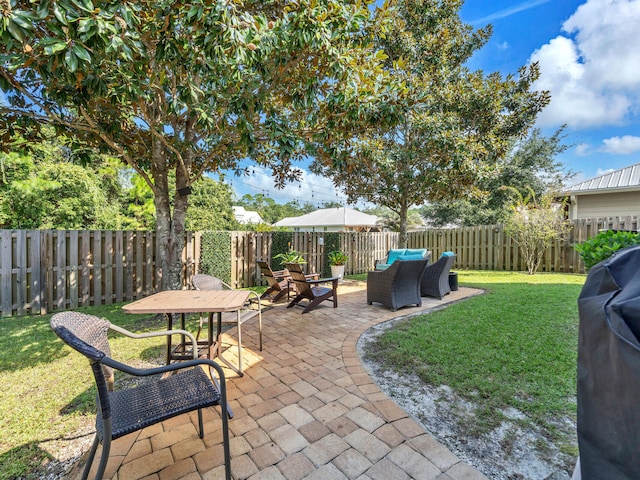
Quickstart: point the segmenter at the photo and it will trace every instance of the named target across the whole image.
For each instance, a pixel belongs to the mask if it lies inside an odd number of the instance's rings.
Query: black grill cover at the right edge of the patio
[[[640,247],[595,265],[578,299],[583,480],[640,478]]]

